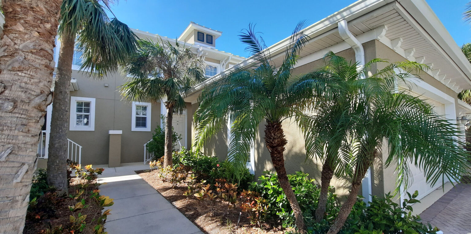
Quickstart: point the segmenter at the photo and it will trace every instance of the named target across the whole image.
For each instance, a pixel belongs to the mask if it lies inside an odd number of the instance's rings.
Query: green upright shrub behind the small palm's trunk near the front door
[[[163,115],[162,115],[163,117]],[[178,146],[177,141],[181,140],[181,134],[176,133],[173,131],[172,128],[172,150],[175,151],[175,149]],[[161,128],[160,126],[157,126],[154,130],[154,135],[152,136],[152,141],[147,143],[147,151],[150,153],[154,153],[154,157],[152,160],[157,160],[161,158],[165,152],[165,128]]]

